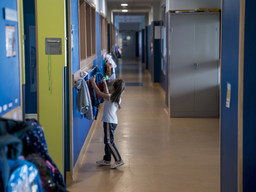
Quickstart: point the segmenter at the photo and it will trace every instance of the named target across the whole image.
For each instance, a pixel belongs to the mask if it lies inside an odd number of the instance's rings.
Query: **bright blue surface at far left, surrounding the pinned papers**
[[[20,67],[19,67],[19,38],[18,38],[18,23],[4,19],[4,8],[9,8],[17,11],[16,0],[0,1],[0,116],[11,111],[15,107],[20,106]],[[6,57],[5,46],[5,27],[15,27],[15,50],[16,55]],[[8,90],[8,92],[6,91]],[[15,100],[17,102],[15,102]],[[12,107],[7,107],[4,111],[4,105],[12,102]]]

